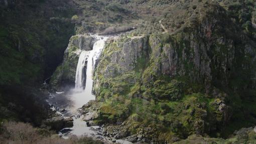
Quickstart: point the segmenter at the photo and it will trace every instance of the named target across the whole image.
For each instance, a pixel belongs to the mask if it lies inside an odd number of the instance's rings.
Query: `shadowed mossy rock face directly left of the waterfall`
[[[50,84],[56,89],[75,85],[76,67],[82,50],[90,51],[93,48],[94,38],[91,36],[72,36],[64,53],[63,62],[54,72]]]

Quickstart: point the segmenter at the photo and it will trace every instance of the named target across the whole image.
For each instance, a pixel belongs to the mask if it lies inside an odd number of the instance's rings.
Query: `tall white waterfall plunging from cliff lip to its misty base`
[[[82,107],[89,100],[95,99],[95,96],[92,94],[93,70],[108,37],[94,36],[94,38],[97,41],[94,43],[93,49],[91,51],[82,51],[77,63],[75,89],[71,96],[74,110]]]

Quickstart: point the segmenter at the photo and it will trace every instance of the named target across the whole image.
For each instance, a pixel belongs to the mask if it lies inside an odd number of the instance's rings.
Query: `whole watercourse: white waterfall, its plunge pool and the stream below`
[[[75,88],[65,93],[56,92],[55,94],[50,94],[48,102],[52,106],[52,110],[56,111],[57,114],[73,118],[73,127],[63,128],[59,131],[59,135],[63,138],[68,138],[71,135],[86,135],[111,143],[107,137],[102,136],[100,126],[87,126],[86,121],[83,120],[83,115],[79,111],[79,108],[84,104],[95,99],[92,94],[94,66],[104,48],[105,41],[110,38],[110,36],[93,37],[96,39],[93,49],[91,51],[81,51],[80,53],[76,69]],[[122,139],[117,139],[116,142],[131,143]]]

